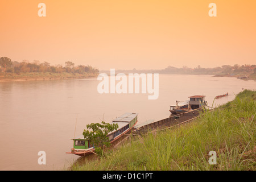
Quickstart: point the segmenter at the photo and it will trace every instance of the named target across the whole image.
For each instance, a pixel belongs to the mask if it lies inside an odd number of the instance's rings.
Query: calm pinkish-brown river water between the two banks
[[[189,96],[229,93],[214,105],[232,101],[244,89],[256,89],[255,81],[198,75],[159,75],[159,97],[148,94],[100,94],[97,78],[81,80],[0,82],[0,170],[62,170],[78,157],[65,154],[71,138],[81,135],[92,122],[111,122],[126,112],[139,113],[139,122],[170,115],[170,105]],[[77,125],[76,125],[77,123]],[[75,130],[76,126],[76,130]],[[46,165],[38,164],[38,152],[46,152]]]

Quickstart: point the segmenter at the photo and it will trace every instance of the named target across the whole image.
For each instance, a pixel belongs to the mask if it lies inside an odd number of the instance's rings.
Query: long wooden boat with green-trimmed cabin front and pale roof
[[[117,141],[122,135],[128,133],[138,122],[138,113],[125,113],[120,117],[114,119],[113,123],[118,124],[118,130],[115,130],[108,134],[110,143]],[[66,154],[75,154],[79,156],[85,156],[92,154],[95,151],[93,143],[84,138],[84,135],[77,138],[72,138],[73,148],[71,152],[66,152]]]

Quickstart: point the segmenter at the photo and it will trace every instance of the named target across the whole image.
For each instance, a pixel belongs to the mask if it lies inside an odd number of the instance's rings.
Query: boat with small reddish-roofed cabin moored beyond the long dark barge
[[[184,103],[184,101],[176,101],[176,106],[170,106],[169,111],[172,114],[180,114],[191,111],[193,109],[199,109],[206,105],[206,101],[204,100],[205,96],[191,96],[188,98],[189,101],[185,101],[187,104],[179,106],[179,103]]]

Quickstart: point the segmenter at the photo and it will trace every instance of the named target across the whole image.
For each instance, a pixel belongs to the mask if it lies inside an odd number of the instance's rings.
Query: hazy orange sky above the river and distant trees
[[[98,69],[256,64],[255,22],[255,0],[1,0],[0,57]]]

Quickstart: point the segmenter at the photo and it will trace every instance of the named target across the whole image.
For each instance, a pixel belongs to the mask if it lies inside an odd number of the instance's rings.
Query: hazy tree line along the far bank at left
[[[72,61],[65,62],[65,67],[62,65],[50,65],[46,61],[40,63],[38,60],[34,60],[33,63],[29,63],[28,61],[24,60],[22,63],[17,61],[11,61],[8,57],[1,57],[0,58],[0,72],[7,72],[7,73],[31,73],[31,72],[50,72],[50,73],[98,73],[98,69],[93,68],[90,65],[78,65],[75,66],[75,63]]]

